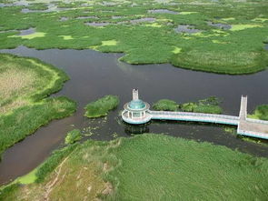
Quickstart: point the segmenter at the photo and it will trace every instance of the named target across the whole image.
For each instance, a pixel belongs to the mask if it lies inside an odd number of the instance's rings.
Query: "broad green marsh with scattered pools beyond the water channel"
[[[268,64],[263,48],[268,40],[266,0],[55,1],[51,4],[62,9],[58,12],[46,12],[49,4],[44,2],[0,8],[0,48],[91,48],[123,52],[121,60],[130,64],[171,63],[233,75],[261,71]],[[24,13],[23,8],[36,12]],[[174,13],[150,12],[154,9]],[[177,33],[180,25],[197,32]],[[19,35],[30,27],[35,33]]]

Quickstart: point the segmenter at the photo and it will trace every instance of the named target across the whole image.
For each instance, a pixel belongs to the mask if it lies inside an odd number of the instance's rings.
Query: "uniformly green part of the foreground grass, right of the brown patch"
[[[114,200],[265,200],[268,161],[224,146],[144,135],[114,150]],[[247,191],[244,191],[244,189]]]

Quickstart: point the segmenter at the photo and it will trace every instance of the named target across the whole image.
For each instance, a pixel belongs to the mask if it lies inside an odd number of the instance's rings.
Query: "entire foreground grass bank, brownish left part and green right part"
[[[67,146],[39,167],[35,183],[9,186],[0,198],[267,200],[267,169],[267,159],[225,146],[147,134]]]

